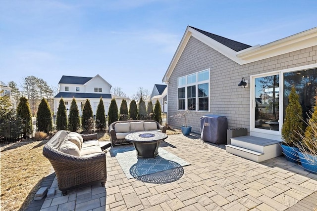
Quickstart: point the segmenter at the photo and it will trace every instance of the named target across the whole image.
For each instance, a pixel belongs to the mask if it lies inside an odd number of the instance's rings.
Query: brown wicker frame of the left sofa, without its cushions
[[[64,137],[70,131],[60,130],[45,144],[43,155],[51,162],[58,181],[58,189],[63,195],[67,190],[87,185],[92,182],[106,183],[106,153],[78,157],[59,151]],[[84,142],[97,139],[97,133],[81,134]]]

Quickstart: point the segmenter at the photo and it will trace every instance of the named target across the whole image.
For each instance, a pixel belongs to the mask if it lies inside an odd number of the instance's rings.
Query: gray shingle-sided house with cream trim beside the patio
[[[241,81],[246,85],[238,86]],[[167,84],[168,117],[189,109],[187,123],[200,133],[200,117],[225,116],[228,128],[248,129],[249,142],[228,146],[242,151],[233,154],[258,154],[252,159],[243,155],[254,161],[268,159],[267,154],[278,156],[280,152],[271,149],[264,153],[260,140],[281,141],[292,85],[300,96],[304,118],[312,111],[317,88],[317,27],[251,46],[188,26],[162,82]],[[167,123],[183,124],[172,118]],[[250,148],[251,143],[262,149]]]

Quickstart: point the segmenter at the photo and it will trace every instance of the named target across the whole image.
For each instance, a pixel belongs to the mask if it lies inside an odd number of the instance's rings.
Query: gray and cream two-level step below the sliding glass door
[[[231,138],[231,144],[225,145],[226,151],[255,162],[282,155],[281,141],[256,136],[239,136]]]

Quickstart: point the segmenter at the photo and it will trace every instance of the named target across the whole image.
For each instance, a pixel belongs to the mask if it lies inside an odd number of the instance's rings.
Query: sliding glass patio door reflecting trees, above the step
[[[289,102],[288,96],[293,85],[299,95],[304,120],[313,112],[317,88],[317,68],[276,71],[272,74],[251,78],[254,80],[251,91],[253,106],[250,107],[253,121],[251,130],[280,135]]]

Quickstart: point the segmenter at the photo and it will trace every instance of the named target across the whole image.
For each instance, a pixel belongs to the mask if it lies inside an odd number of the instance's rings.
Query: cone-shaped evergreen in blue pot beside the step
[[[294,86],[292,86],[288,99],[289,103],[286,107],[285,121],[282,126],[283,143],[281,147],[286,160],[298,163],[297,141],[300,140],[300,135],[303,133],[303,110]]]

